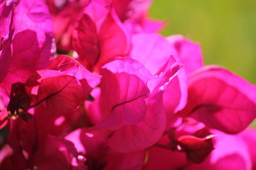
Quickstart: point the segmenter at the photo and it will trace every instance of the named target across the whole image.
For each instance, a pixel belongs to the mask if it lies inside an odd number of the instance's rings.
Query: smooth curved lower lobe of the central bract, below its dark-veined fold
[[[154,145],[163,135],[166,115],[161,94],[148,97],[147,113],[142,122],[113,132],[108,145],[118,152],[135,152]]]

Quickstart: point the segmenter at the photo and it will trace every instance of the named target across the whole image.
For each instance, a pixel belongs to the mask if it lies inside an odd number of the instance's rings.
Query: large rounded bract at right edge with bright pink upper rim
[[[235,134],[256,117],[256,87],[218,66],[191,75],[184,113],[209,127]]]

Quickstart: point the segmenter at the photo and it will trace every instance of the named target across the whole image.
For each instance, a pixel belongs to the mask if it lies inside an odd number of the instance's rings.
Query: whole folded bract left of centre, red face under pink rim
[[[36,105],[44,102],[49,110],[62,115],[76,110],[99,81],[100,76],[90,73],[76,60],[59,55],[49,69],[37,71],[26,84],[33,91],[38,89]]]

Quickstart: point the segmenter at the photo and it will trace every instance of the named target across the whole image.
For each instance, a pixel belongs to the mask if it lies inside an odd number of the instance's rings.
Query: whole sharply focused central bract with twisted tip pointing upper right
[[[108,139],[111,148],[134,152],[156,143],[166,126],[163,91],[179,69],[179,64],[168,61],[161,75],[152,76],[138,61],[129,58],[118,58],[102,67],[102,102],[96,99],[88,108],[91,116],[90,107],[100,106],[102,122],[97,127],[112,127],[109,131],[113,134]],[[131,83],[129,88],[125,85]]]

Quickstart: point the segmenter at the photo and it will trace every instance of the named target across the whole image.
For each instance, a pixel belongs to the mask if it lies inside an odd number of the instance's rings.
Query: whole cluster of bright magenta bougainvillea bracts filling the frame
[[[256,168],[256,86],[151,3],[0,0],[0,169]]]

